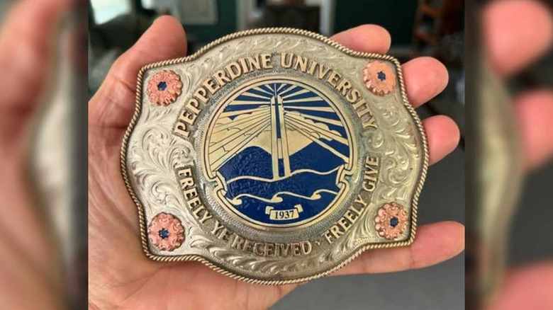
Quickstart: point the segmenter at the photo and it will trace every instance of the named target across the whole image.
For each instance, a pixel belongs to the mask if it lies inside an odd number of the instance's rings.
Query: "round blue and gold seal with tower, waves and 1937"
[[[211,115],[206,176],[221,205],[254,227],[308,226],[348,188],[352,132],[337,106],[294,79],[240,85]]]

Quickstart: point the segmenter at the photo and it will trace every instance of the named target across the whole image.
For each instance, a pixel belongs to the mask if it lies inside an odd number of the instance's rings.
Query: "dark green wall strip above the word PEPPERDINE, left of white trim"
[[[217,0],[219,12],[216,25],[184,25],[195,40],[211,42],[236,31],[236,0]]]

